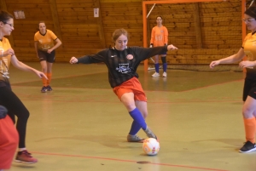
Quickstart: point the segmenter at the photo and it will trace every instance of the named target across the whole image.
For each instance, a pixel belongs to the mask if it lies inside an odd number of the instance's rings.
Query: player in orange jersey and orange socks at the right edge
[[[241,147],[240,152],[251,152],[256,151],[256,7],[250,7],[245,11],[243,21],[246,23],[247,29],[252,32],[247,34],[238,53],[221,60],[212,61],[210,67],[241,61],[244,56],[247,56],[247,60],[239,63],[241,68],[247,70],[242,99],[244,101],[242,115],[247,142]]]

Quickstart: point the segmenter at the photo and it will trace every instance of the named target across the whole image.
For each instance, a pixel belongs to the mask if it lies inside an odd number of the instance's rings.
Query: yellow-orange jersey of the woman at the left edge
[[[9,40],[3,37],[3,40],[0,41],[0,54],[8,50],[9,48],[11,48]],[[0,80],[5,80],[6,77],[9,78],[10,58],[10,54],[5,57],[0,57]]]

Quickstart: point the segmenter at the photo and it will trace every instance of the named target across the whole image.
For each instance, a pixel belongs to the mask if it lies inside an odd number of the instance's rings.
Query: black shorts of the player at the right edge
[[[256,80],[246,77],[243,86],[242,100],[247,100],[247,96],[256,100]]]

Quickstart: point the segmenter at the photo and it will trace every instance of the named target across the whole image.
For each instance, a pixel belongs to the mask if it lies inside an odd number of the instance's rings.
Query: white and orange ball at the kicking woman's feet
[[[156,155],[159,150],[160,150],[160,144],[157,140],[155,140],[153,138],[148,138],[143,141],[143,151],[148,156]]]

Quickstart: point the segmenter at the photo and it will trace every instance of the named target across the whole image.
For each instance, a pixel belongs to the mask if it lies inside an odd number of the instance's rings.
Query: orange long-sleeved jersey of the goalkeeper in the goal
[[[150,44],[154,44],[156,46],[164,46],[168,43],[168,31],[166,26],[154,26],[151,31],[151,40]]]

